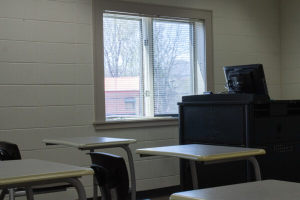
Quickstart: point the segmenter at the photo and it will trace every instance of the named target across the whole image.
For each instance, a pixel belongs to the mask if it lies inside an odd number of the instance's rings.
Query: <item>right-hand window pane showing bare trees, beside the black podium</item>
[[[181,96],[193,93],[190,24],[153,21],[154,114],[178,113]]]

